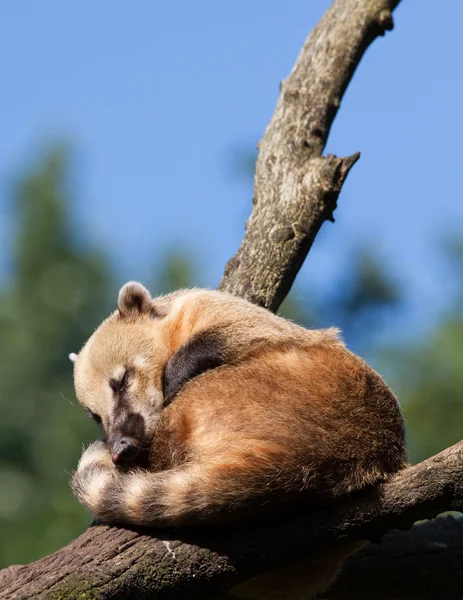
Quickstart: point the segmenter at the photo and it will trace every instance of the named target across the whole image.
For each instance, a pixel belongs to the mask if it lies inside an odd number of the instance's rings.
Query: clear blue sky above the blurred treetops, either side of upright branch
[[[248,182],[231,175],[252,148],[326,0],[0,6],[0,249],[8,187],[49,141],[76,149],[76,210],[125,278],[186,247],[217,284],[242,237]],[[362,60],[327,152],[362,157],[300,275],[335,282],[346,250],[371,242],[408,281],[416,315],[442,301],[439,237],[461,231],[463,3],[403,0],[392,33]]]

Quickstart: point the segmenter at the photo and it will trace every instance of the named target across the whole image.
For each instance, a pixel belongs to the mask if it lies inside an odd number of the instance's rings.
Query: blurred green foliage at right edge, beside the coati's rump
[[[449,234],[441,244],[442,270],[453,283],[434,327],[380,354],[405,411],[411,462],[419,462],[462,438],[463,241]]]

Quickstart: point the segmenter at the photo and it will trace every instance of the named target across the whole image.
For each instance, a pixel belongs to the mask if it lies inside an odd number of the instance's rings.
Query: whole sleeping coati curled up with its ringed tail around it
[[[152,298],[130,282],[72,358],[77,398],[105,435],[72,485],[104,522],[240,519],[269,499],[330,501],[406,466],[395,396],[336,329],[224,292]]]

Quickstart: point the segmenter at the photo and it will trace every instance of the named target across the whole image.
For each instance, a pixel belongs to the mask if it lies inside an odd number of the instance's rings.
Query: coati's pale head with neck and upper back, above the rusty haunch
[[[191,379],[259,345],[298,336],[307,342],[306,330],[224,292],[152,298],[130,282],[119,292],[118,310],[70,356],[77,398],[101,424],[113,461],[131,463],[150,448],[161,411]]]

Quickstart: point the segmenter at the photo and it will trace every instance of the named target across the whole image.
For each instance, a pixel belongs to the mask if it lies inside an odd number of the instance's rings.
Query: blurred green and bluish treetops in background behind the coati
[[[48,152],[11,196],[13,269],[0,293],[0,567],[52,552],[90,522],[69,479],[99,432],[77,406],[68,354],[113,309],[118,286],[110,257],[82,243],[71,217],[68,163],[66,149]],[[296,285],[280,311],[306,326],[341,326],[348,345],[389,374],[412,460],[463,437],[462,248],[446,245],[455,294],[425,342],[378,347],[404,290],[367,248],[353,253],[332,292],[314,298]],[[153,268],[150,287],[164,293],[196,282],[195,265],[175,249]]]

